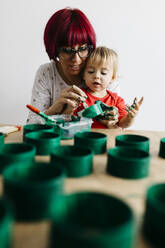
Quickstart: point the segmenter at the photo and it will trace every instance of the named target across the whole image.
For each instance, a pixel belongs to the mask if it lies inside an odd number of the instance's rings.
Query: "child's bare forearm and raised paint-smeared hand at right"
[[[127,128],[133,124],[134,119],[139,112],[140,106],[143,103],[143,100],[144,98],[141,97],[140,101],[138,102],[137,98],[135,98],[132,108],[129,110],[128,114],[125,117],[121,118],[118,122],[119,127]]]

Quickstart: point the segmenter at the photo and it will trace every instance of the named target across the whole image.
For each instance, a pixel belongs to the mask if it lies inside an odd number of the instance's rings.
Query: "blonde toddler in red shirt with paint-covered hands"
[[[99,100],[114,107],[114,110],[110,111],[108,119],[93,119],[92,128],[127,128],[131,126],[143,102],[143,97],[140,101],[135,98],[132,107],[127,112],[124,99],[107,89],[117,77],[117,65],[117,53],[107,47],[97,47],[87,59],[83,72],[86,87],[82,88],[87,95],[86,104],[91,106]],[[80,103],[74,111],[74,115],[77,115],[83,108],[83,103]]]

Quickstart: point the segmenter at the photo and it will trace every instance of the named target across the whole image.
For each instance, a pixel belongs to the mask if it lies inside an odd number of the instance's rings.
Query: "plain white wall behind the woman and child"
[[[86,13],[98,45],[118,52],[126,102],[145,97],[131,128],[164,130],[164,0],[1,0],[0,123],[25,123],[35,72],[49,61],[44,27],[55,11],[68,6]]]

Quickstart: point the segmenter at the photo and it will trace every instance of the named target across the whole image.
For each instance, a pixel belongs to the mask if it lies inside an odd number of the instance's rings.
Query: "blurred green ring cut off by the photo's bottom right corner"
[[[153,247],[165,247],[165,183],[147,190],[143,233]]]

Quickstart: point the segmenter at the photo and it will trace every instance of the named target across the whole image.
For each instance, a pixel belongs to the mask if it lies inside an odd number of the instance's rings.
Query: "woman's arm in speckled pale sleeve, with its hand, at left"
[[[49,69],[49,70],[48,70]],[[59,97],[52,104],[52,98],[58,82],[52,81],[51,70],[48,65],[42,65],[38,69],[32,89],[31,105],[45,112],[47,115],[72,114],[80,103],[85,100],[85,93],[73,85],[61,91]],[[27,123],[43,123],[41,117],[29,112]]]

